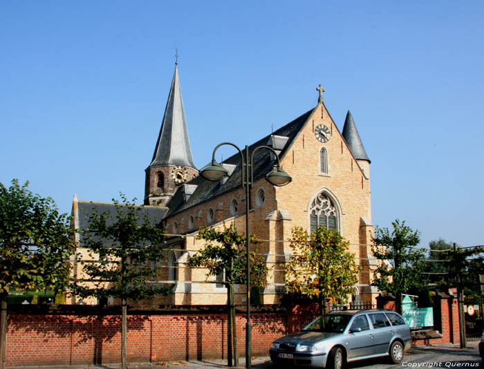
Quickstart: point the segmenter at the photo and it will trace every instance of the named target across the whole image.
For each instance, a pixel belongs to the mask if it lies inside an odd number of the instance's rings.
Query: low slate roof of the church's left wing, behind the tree
[[[123,204],[118,204],[118,206],[124,207]],[[166,207],[150,207],[135,205],[139,209],[138,224],[142,225],[145,221],[145,214],[150,223],[154,225],[159,225],[161,227],[161,220],[167,214],[168,209]],[[77,220],[76,226],[80,233],[80,245],[82,246],[83,240],[86,237],[86,230],[89,229],[89,217],[93,216],[94,210],[98,214],[107,213],[109,217],[107,219],[107,224],[112,225],[117,216],[116,204],[112,202],[92,202],[92,201],[82,201],[77,200],[77,214],[74,214]]]

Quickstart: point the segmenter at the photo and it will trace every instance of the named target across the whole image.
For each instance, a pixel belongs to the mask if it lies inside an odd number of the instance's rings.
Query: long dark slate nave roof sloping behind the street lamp
[[[288,141],[286,142],[283,150],[279,153],[279,157],[283,157],[286,153],[288,147],[292,143],[292,141],[296,138],[297,133],[301,131],[304,124],[307,122],[310,115],[313,113],[315,108],[311,109],[310,111],[304,113],[300,117],[297,117],[292,122],[282,126],[281,128],[277,129],[272,133],[272,135],[276,136],[283,136],[288,137]],[[267,135],[266,137],[262,138],[261,140],[255,142],[254,144],[249,146],[249,155],[252,155],[252,151],[261,145],[267,145],[270,140],[271,135]],[[243,149],[243,148],[241,148]],[[242,150],[244,160],[245,160],[245,149]],[[254,181],[258,180],[259,178],[266,176],[266,173],[272,170],[272,166],[275,163],[275,158],[270,155],[270,152],[266,149],[259,149],[254,155]],[[224,160],[222,164],[233,164],[235,165],[235,169],[232,175],[225,181],[216,181],[212,182],[210,180],[205,180],[202,176],[197,176],[193,180],[187,182],[187,185],[197,185],[196,190],[189,197],[189,199],[185,202],[185,198],[183,196],[183,190],[180,187],[178,191],[176,191],[175,195],[171,200],[168,202],[167,207],[169,208],[169,212],[167,216],[171,216],[174,214],[179,213],[185,209],[189,209],[190,207],[194,207],[201,202],[205,202],[207,200],[212,200],[216,196],[221,195],[227,191],[231,191],[237,187],[241,186],[241,156],[237,152],[236,154],[232,155],[227,160]]]

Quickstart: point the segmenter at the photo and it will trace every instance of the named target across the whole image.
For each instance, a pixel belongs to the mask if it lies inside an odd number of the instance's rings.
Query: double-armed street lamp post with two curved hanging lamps
[[[277,152],[272,149],[270,146],[257,146],[253,151],[252,155],[250,155],[249,160],[249,146],[245,145],[245,160],[243,157],[243,153],[241,149],[235,144],[231,142],[222,142],[218,144],[214,152],[212,153],[212,162],[205,167],[203,167],[200,171],[201,176],[206,178],[207,180],[217,181],[221,180],[223,177],[228,175],[227,170],[221,165],[218,164],[215,160],[215,152],[217,149],[222,145],[230,145],[234,146],[239,154],[241,155],[241,164],[242,164],[242,176],[241,182],[242,187],[245,189],[245,238],[247,242],[247,323],[245,324],[245,366],[246,368],[250,368],[251,366],[251,355],[252,355],[252,325],[250,323],[250,233],[249,233],[249,211],[250,211],[250,190],[254,185],[254,153],[259,149],[268,149],[272,151],[277,158],[277,166],[274,166],[274,169],[266,174],[266,180],[270,182],[274,186],[284,186],[287,185],[292,178],[283,171],[281,167],[281,163],[279,162],[279,155]]]

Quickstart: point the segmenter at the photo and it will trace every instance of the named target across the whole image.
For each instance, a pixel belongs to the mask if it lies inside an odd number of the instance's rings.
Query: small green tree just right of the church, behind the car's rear
[[[420,232],[403,221],[391,223],[393,230],[376,228],[371,247],[373,256],[381,261],[374,270],[372,285],[395,296],[396,310],[402,314],[402,293],[427,288],[424,254],[412,248],[420,243]]]

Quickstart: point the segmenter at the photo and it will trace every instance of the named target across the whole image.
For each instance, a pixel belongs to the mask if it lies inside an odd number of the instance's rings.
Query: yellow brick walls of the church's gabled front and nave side
[[[319,124],[328,126],[331,130],[331,139],[322,143],[315,138],[315,127]],[[328,174],[320,173],[319,151],[326,148],[328,154]],[[351,243],[350,251],[355,254],[357,263],[366,264],[367,254],[371,254],[369,245],[371,227],[371,189],[370,189],[370,166],[364,160],[355,160],[348,149],[341,133],[333,122],[326,107],[319,104],[308,122],[299,132],[286,153],[281,158],[283,169],[292,176],[292,182],[285,187],[274,187],[265,179],[261,178],[251,191],[251,203],[253,210],[250,211],[250,233],[256,234],[264,242],[261,245],[253,246],[261,254],[268,254],[268,266],[272,271],[268,274],[268,283],[283,283],[282,265],[275,264],[284,260],[283,254],[290,250],[287,240],[290,237],[292,227],[300,226],[308,229],[309,214],[308,205],[310,200],[322,189],[331,193],[341,210],[339,214],[339,230],[342,236]],[[266,201],[261,207],[257,205],[256,196],[259,189],[266,192]],[[213,200],[204,202],[201,205],[187,209],[176,214],[167,220],[167,232],[172,230],[173,223],[178,223],[178,233],[191,232],[196,235],[196,229],[200,226],[211,226],[222,222],[234,222],[236,228],[245,234],[245,190],[234,189]],[[230,214],[230,202],[236,198],[239,202],[237,216]],[[332,199],[333,200],[333,199]],[[212,207],[216,217],[210,224],[207,221],[207,211]],[[290,215],[290,220],[284,220],[278,211]],[[189,216],[195,217],[196,222],[193,229],[189,229]],[[272,216],[271,216],[272,215]],[[270,218],[266,220],[266,218]],[[370,225],[362,226],[362,218],[366,218]],[[309,229],[308,229],[309,231]],[[196,252],[203,247],[201,240],[192,241],[187,249]],[[279,269],[279,271],[278,271]],[[367,271],[368,268],[365,268]],[[200,269],[192,271],[192,283],[194,281],[205,281],[206,276]],[[369,283],[369,273],[360,275],[360,283]],[[243,286],[241,286],[242,288]],[[245,289],[236,294],[236,300],[245,301]],[[192,297],[176,297],[176,301],[190,301],[190,303],[225,303],[226,296],[214,288],[212,283],[200,283],[198,291],[192,292]],[[274,303],[280,296],[268,294],[263,296],[264,303]]]

